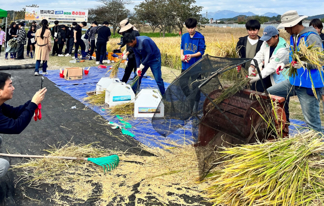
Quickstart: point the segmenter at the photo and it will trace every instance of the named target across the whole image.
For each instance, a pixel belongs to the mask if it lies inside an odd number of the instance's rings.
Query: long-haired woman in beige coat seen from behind
[[[43,19],[41,21],[42,28],[38,29],[35,34],[35,76],[38,76],[40,61],[43,61],[43,74],[47,74],[47,61],[50,57],[50,51],[52,50],[52,34],[47,27],[47,20]]]

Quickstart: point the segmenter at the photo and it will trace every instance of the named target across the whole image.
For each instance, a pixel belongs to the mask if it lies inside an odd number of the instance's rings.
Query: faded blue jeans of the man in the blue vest
[[[320,118],[320,100],[312,95],[309,88],[293,86],[289,79],[267,89],[270,95],[276,95],[288,99],[296,96],[301,105],[301,110],[304,115],[307,126],[318,132],[322,132],[322,124]],[[309,94],[307,94],[307,91]],[[317,97],[322,97],[322,89],[316,89]]]

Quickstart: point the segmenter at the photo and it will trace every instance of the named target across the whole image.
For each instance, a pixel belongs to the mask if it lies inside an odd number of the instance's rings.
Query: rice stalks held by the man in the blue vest
[[[295,39],[296,42],[297,39]],[[315,43],[314,43],[315,44]],[[301,38],[299,45],[292,47],[292,59],[295,62],[298,62],[304,69],[307,69],[301,62],[307,62],[311,65],[314,65],[316,69],[320,71],[324,66],[324,52],[321,51],[321,48],[314,47],[314,44],[307,46],[305,39]],[[289,76],[297,75],[297,69],[290,67]]]

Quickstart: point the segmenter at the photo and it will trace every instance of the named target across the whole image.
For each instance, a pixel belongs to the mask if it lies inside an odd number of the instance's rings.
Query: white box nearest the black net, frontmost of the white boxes
[[[158,89],[142,89],[135,98],[134,117],[164,116],[164,105],[160,104],[162,96]]]

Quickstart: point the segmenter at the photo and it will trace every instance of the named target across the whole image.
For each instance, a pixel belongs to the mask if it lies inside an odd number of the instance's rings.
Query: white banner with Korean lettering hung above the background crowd
[[[25,20],[41,21],[87,22],[88,10],[26,7]]]

